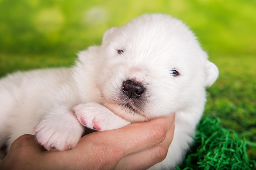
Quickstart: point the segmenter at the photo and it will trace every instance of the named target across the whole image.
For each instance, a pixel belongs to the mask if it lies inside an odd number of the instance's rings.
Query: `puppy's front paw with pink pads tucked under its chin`
[[[96,102],[76,105],[73,112],[83,126],[98,131],[118,129],[130,124],[130,122]]]

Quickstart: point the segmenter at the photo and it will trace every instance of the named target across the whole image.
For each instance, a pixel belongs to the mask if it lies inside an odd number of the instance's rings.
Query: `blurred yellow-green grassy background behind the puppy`
[[[218,66],[204,115],[256,142],[256,0],[0,0],[0,76],[72,65],[108,28],[150,12],[183,20]]]

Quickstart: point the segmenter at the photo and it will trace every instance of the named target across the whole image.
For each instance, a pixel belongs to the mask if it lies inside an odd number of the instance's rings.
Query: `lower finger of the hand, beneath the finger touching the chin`
[[[144,170],[163,161],[173,140],[174,129],[175,124],[173,124],[171,129],[167,132],[166,138],[162,143],[121,159],[117,164],[116,169]]]

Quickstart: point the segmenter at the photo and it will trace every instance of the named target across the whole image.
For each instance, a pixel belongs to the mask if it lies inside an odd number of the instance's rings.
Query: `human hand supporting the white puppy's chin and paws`
[[[66,151],[46,151],[33,135],[22,135],[11,145],[0,169],[147,169],[166,157],[174,119],[173,115],[90,133]]]

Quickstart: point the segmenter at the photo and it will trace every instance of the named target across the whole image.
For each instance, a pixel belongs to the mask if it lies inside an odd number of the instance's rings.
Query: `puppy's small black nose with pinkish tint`
[[[139,97],[142,94],[143,90],[144,90],[144,87],[140,83],[137,83],[137,82],[131,81],[131,80],[126,80],[124,82],[123,92],[129,98]]]

